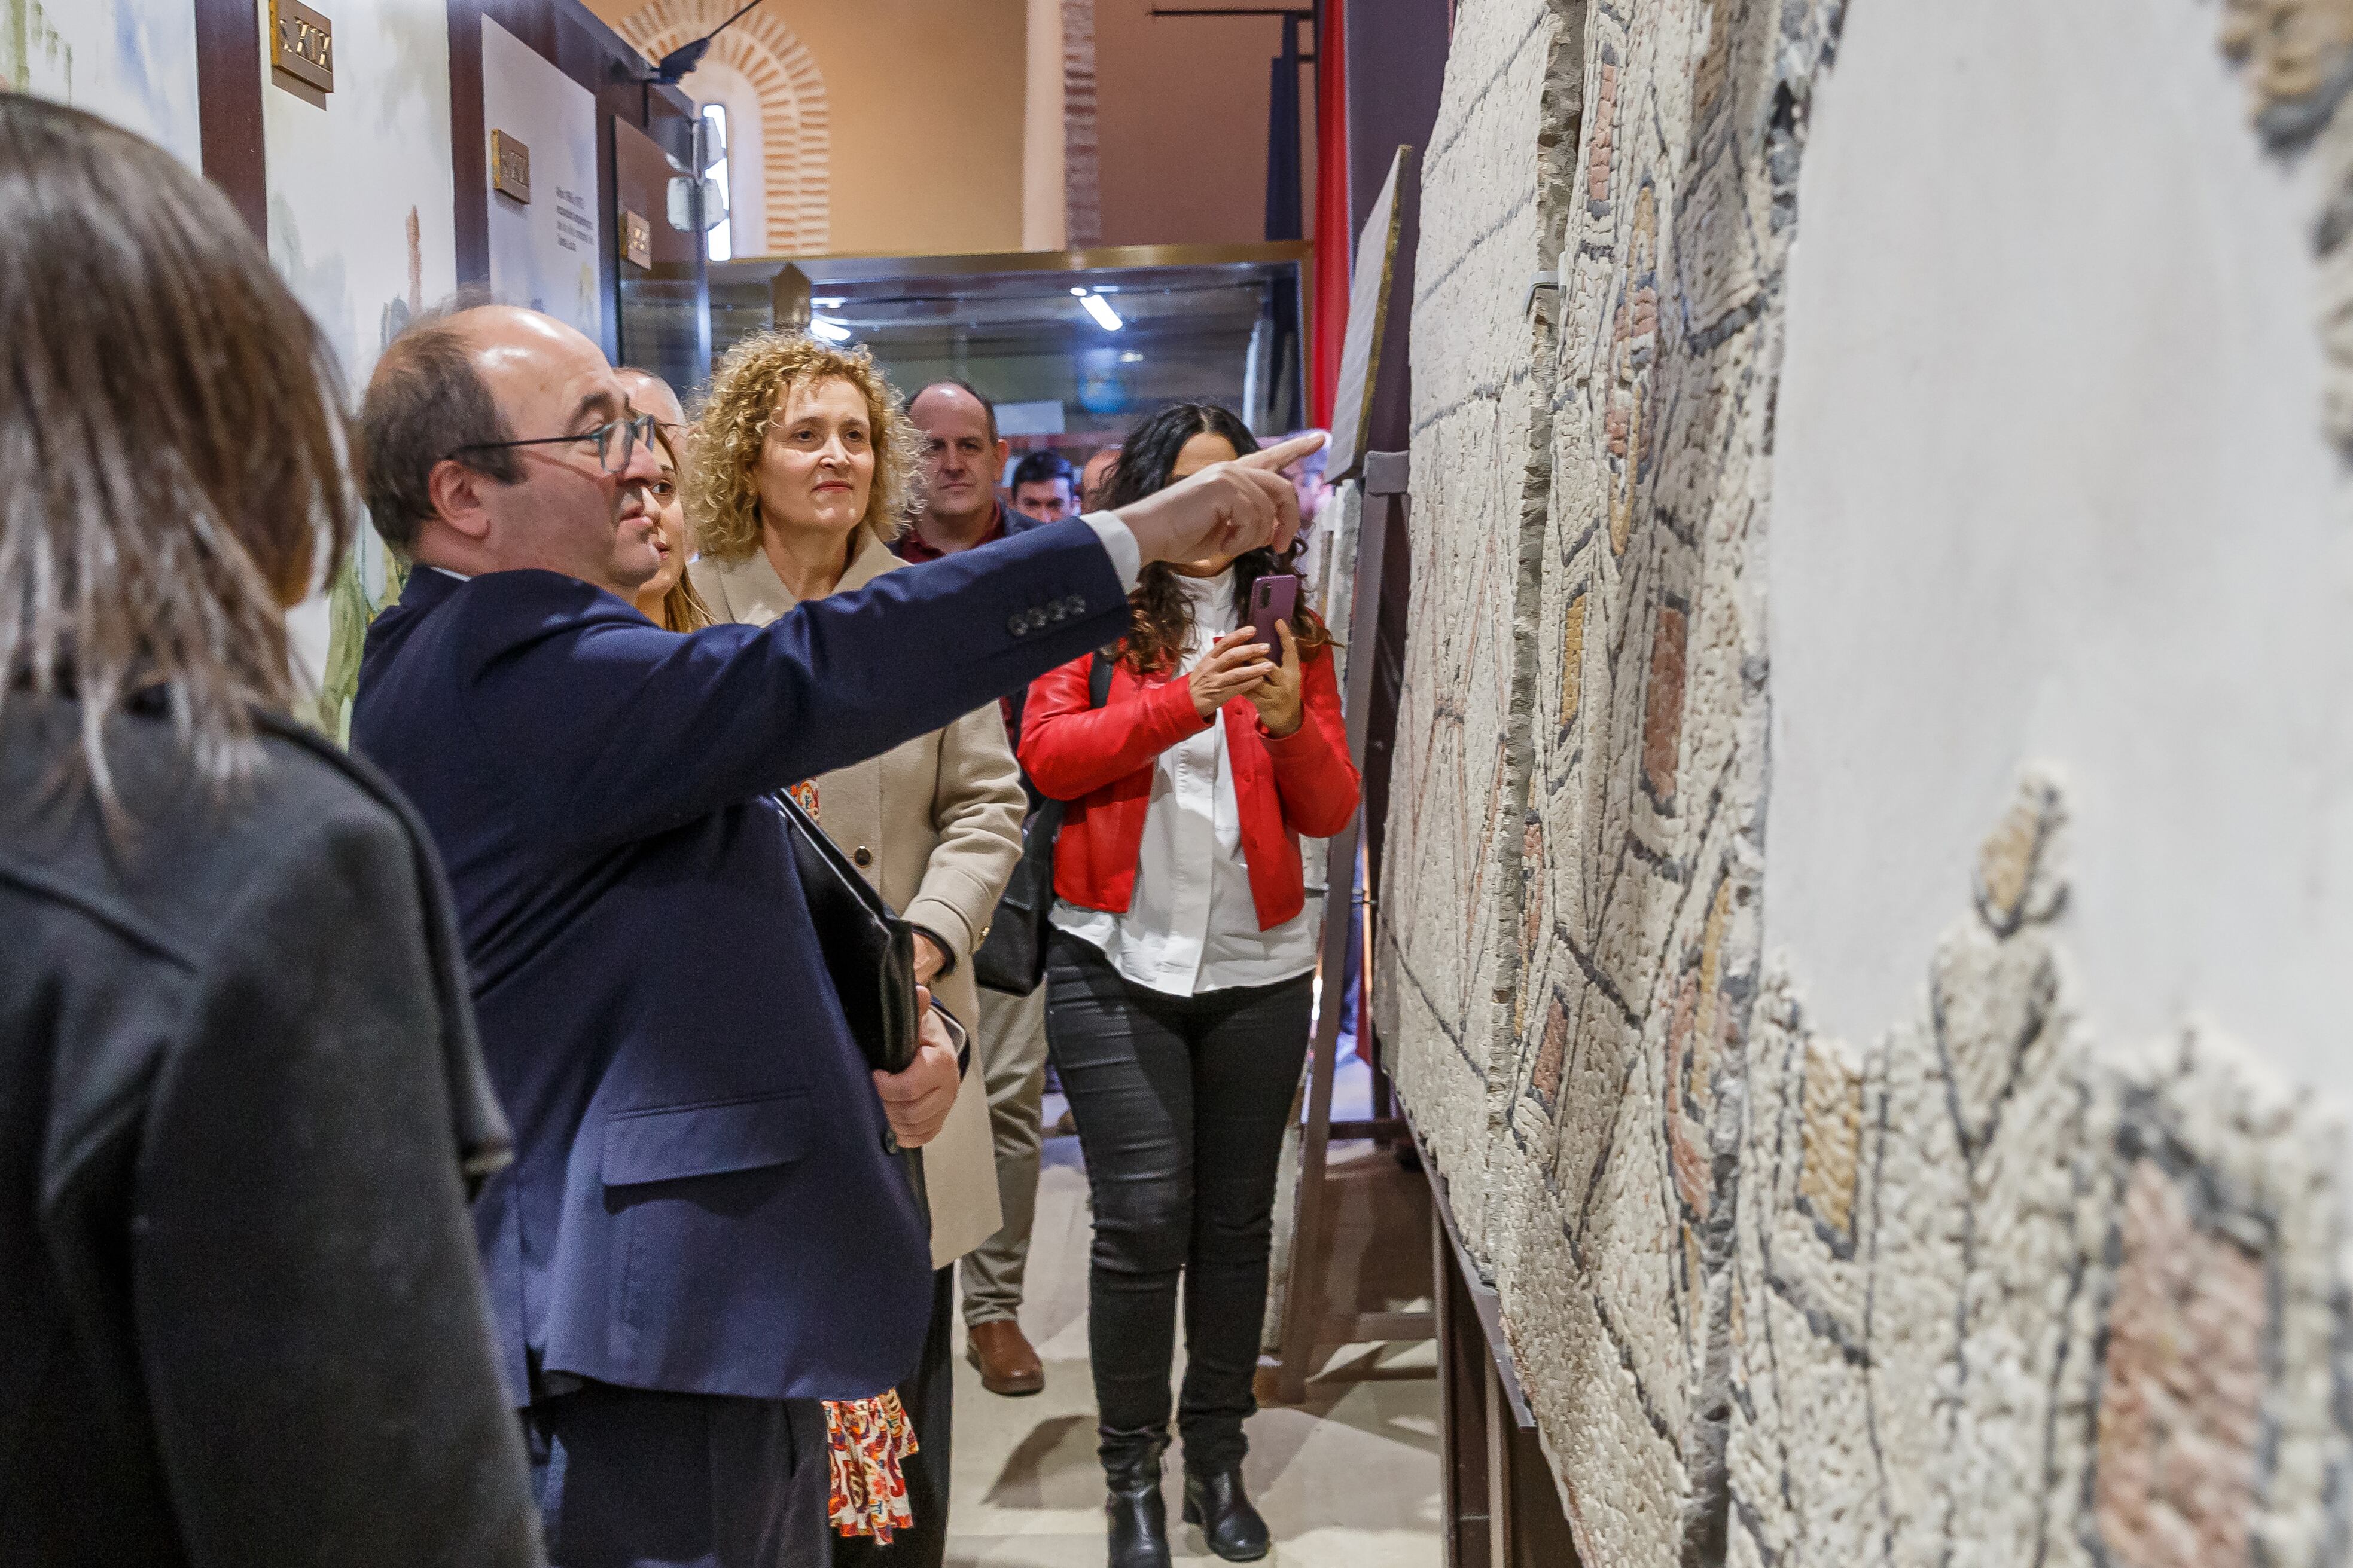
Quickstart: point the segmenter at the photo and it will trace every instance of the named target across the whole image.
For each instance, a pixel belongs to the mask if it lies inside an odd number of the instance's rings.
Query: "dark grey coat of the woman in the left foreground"
[[[134,837],[0,717],[0,1563],[536,1563],[461,1185],[504,1157],[398,797],[271,724],[216,804],[108,729]]]

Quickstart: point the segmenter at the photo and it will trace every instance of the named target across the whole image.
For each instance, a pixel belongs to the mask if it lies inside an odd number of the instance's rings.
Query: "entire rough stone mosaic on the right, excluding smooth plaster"
[[[1459,9],[1414,301],[1398,1084],[1586,1563],[2346,1563],[2337,1145],[2212,1030],[2094,1053],[2054,778],[1868,1048],[1760,950],[1784,275],[1842,5]],[[2341,134],[2353,169],[2348,19],[2231,0],[2224,45],[2275,146]]]

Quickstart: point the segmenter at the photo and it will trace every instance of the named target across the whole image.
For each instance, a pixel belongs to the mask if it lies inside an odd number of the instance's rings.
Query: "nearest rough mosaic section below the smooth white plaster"
[[[2191,1027],[2097,1051],[2047,776],[1920,1011],[1852,1051],[1765,980],[1732,1269],[1741,1568],[2344,1563],[2339,1150]]]

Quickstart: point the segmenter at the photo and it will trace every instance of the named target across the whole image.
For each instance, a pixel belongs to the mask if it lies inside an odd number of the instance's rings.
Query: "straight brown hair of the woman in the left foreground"
[[[282,604],[351,545],[341,371],[228,200],[129,132],[0,94],[0,703],[160,698],[214,788],[294,703]],[[325,559],[318,559],[325,550]]]

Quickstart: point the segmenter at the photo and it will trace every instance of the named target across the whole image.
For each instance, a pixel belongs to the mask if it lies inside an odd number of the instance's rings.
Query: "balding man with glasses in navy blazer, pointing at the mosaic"
[[[515,1126],[475,1227],[553,1561],[821,1561],[814,1401],[918,1359],[929,1258],[887,1150],[939,1128],[958,1065],[929,1020],[913,1067],[866,1070],[769,795],[1115,639],[1144,562],[1287,538],[1297,454],[680,637],[631,607],[645,435],[529,310],[386,350],[367,501],[414,567],[353,745],[447,865]]]

